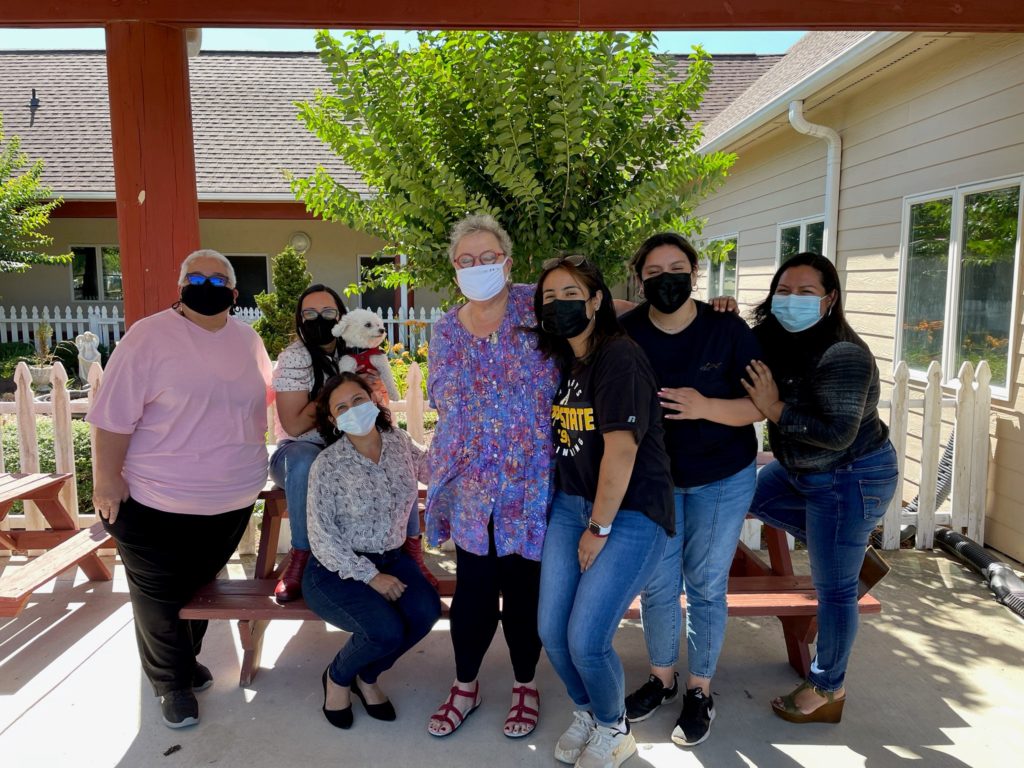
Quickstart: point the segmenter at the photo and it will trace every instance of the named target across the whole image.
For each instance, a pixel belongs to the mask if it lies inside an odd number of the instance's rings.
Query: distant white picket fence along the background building
[[[419,310],[399,309],[397,312],[388,307],[384,312],[375,310],[384,321],[387,329],[388,346],[400,343],[406,349],[416,350],[421,344],[430,341],[430,329],[443,313],[440,309]],[[250,326],[262,317],[262,312],[256,307],[239,307],[234,316]],[[79,334],[91,331],[99,339],[99,343],[110,348],[121,340],[125,332],[125,318],[117,305],[90,304],[77,306],[74,309],[65,306],[40,309],[37,306],[4,308],[0,306],[0,344],[6,342],[23,342],[39,347],[37,338],[39,326],[48,324],[53,329],[53,342],[74,341]]]

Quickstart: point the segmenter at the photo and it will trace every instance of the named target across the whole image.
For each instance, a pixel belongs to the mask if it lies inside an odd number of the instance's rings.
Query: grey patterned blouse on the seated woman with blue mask
[[[408,433],[396,427],[381,438],[377,464],[342,437],[309,470],[309,548],[342,579],[367,583],[377,575],[377,567],[357,553],[402,545],[416,508],[417,479],[429,478],[425,450]]]

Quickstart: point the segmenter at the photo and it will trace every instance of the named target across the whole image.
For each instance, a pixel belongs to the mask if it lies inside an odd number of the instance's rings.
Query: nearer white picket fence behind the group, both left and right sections
[[[95,392],[96,388],[101,385],[102,379],[102,370],[98,365],[92,366],[88,378],[90,391]],[[882,403],[882,407],[889,409],[890,433],[899,457],[901,482],[884,518],[883,546],[886,549],[898,548],[900,525],[905,522],[916,524],[915,545],[919,549],[932,548],[937,523],[951,525],[954,530],[966,530],[967,535],[974,541],[984,542],[991,402],[989,388],[991,374],[988,364],[981,361],[975,369],[970,362],[965,362],[954,384],[954,397],[943,397],[942,376],[937,362],[933,362],[928,371],[928,382],[923,392],[920,385],[909,383],[905,364],[901,362],[897,366],[894,378],[891,399],[887,403]],[[59,362],[54,365],[51,374],[53,394],[49,401],[34,399],[30,387],[31,375],[26,364],[18,364],[14,380],[17,385],[14,401],[0,402],[0,428],[5,420],[11,417],[16,420],[22,471],[35,472],[39,470],[36,417],[44,415],[53,420],[54,455],[57,471],[74,473],[75,456],[71,420],[73,415],[82,416],[88,413],[89,399],[70,399],[66,389],[68,375]],[[424,441],[426,433],[424,416],[428,411],[421,389],[422,381],[423,372],[419,365],[414,362],[409,370],[406,399],[390,403],[393,413],[406,414],[408,430],[413,438],[420,442]],[[271,406],[271,408],[273,407]],[[952,411],[951,416],[956,435],[950,494],[951,511],[946,514],[937,514],[935,487],[939,460],[943,451],[940,444],[943,409]],[[902,505],[907,424],[911,410],[923,411],[925,425],[922,437],[921,497],[916,515],[904,512]],[[272,415],[270,418],[272,420]],[[5,463],[3,445],[0,442],[0,472],[2,471],[5,471]],[[73,516],[78,519],[80,525],[90,525],[95,522],[93,515],[79,514],[74,483],[69,483],[66,486],[65,494],[67,498],[63,499],[63,502]],[[45,521],[38,511],[32,509],[31,504],[28,507],[23,524],[30,528],[44,526]],[[10,516],[0,522],[0,529],[3,529],[4,525],[9,525],[9,521]],[[748,523],[750,522],[748,521]],[[744,530],[743,541],[748,542],[749,545],[759,547],[758,541],[754,539],[755,527],[748,525],[749,529]],[[757,539],[760,539],[759,529]]]

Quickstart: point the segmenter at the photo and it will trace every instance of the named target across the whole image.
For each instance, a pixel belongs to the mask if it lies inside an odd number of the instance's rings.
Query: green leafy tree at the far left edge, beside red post
[[[23,170],[26,166],[28,170]],[[53,244],[42,230],[62,202],[50,199],[52,189],[43,185],[42,175],[42,160],[30,165],[18,137],[5,139],[0,115],[0,273],[71,261],[70,253],[51,256],[42,252]]]

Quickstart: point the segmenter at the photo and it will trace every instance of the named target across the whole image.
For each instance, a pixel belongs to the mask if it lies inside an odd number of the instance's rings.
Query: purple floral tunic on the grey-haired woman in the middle
[[[478,339],[459,307],[434,325],[428,389],[437,409],[430,445],[427,536],[486,555],[541,559],[552,496],[552,360],[537,351],[534,286],[512,286],[497,337]]]

